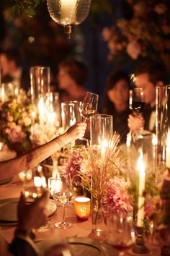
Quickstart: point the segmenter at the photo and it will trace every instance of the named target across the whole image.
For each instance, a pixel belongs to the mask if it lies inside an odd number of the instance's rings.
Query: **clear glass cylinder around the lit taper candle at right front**
[[[138,189],[140,179],[140,164],[145,171],[145,191],[151,195],[155,185],[155,142],[152,132],[129,133],[127,136],[128,178],[131,182],[133,205],[138,209]]]

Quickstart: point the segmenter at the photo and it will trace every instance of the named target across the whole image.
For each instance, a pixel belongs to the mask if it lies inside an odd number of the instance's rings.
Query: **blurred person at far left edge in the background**
[[[13,49],[0,53],[1,81],[12,82],[18,88],[30,89],[30,74],[21,66],[19,52]]]

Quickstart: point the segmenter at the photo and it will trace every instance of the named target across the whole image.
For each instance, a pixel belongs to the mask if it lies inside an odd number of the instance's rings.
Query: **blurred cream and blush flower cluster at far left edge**
[[[22,89],[17,96],[10,96],[7,101],[0,103],[1,140],[18,155],[32,147],[32,111],[31,100]]]

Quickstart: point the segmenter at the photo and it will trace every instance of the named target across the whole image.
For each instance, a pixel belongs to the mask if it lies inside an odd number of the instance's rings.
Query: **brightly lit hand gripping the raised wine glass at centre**
[[[86,123],[80,122],[74,124],[64,133],[64,140],[67,142],[71,142],[73,140],[77,140],[80,137],[84,137],[84,133],[86,131]]]

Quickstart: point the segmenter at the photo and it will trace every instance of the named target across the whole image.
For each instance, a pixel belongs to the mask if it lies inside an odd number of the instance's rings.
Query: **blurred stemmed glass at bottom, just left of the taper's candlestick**
[[[119,256],[135,243],[133,218],[117,210],[109,210],[107,216],[107,242],[119,251]]]

